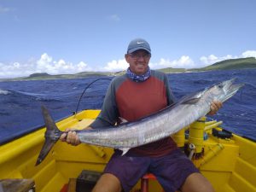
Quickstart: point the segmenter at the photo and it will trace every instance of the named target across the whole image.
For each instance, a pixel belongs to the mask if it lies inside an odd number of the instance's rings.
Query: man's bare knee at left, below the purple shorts
[[[102,177],[100,177],[100,179],[97,181],[96,186],[92,192],[120,192],[121,190],[122,187],[118,177],[115,177],[110,173],[104,173]]]

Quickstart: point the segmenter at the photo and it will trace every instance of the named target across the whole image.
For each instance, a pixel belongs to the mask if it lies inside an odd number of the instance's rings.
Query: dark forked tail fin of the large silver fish
[[[49,115],[48,109],[44,106],[42,106],[41,108],[42,108],[42,113],[43,113],[44,122],[46,126],[46,131],[44,133],[44,137],[45,137],[44,145],[40,151],[40,154],[38,155],[36,166],[38,166],[45,159],[47,154],[49,154],[50,149],[59,140],[62,133],[62,131],[60,131],[58,127],[55,125],[55,121]]]

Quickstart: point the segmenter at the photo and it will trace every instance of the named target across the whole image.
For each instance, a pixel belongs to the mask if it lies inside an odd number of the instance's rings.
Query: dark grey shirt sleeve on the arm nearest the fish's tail
[[[119,112],[115,101],[115,83],[113,79],[111,84],[108,86],[101,113],[98,115],[96,120],[90,124],[90,127],[93,129],[99,129],[113,126],[117,122],[118,117]]]

